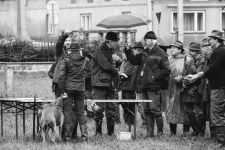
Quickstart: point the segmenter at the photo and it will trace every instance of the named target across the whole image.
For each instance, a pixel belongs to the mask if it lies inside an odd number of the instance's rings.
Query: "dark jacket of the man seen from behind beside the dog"
[[[86,59],[79,51],[65,55],[59,69],[59,89],[61,93],[70,90],[85,90]]]

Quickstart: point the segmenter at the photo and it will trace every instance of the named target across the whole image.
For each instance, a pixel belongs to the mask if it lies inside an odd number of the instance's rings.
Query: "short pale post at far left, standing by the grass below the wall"
[[[6,66],[5,70],[5,89],[6,89],[6,97],[10,96],[10,93],[13,92],[13,73],[14,69]]]

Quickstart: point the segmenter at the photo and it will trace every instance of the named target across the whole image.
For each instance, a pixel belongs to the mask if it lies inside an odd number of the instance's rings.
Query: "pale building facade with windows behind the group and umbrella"
[[[20,1],[25,8],[22,10],[25,25],[21,28],[31,39],[57,37],[64,29],[103,30],[96,26],[101,20],[120,14],[152,20],[149,25],[132,28],[137,30],[137,41],[148,30],[156,32],[162,45],[168,45],[177,38],[178,0],[55,0],[59,9],[53,13],[46,9],[49,0]],[[224,8],[224,0],[183,0],[185,45],[200,41],[213,29],[225,29]],[[0,1],[0,18],[0,34],[17,35],[18,3],[15,0]]]

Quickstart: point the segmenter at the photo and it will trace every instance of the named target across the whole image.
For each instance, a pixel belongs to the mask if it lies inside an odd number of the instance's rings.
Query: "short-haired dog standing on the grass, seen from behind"
[[[61,132],[64,122],[64,114],[62,111],[63,97],[59,97],[52,103],[45,104],[38,110],[38,117],[40,119],[39,124],[39,136],[42,137],[43,143],[46,142],[46,135],[51,129],[51,140],[55,143],[56,126],[59,126],[59,140],[61,141]]]

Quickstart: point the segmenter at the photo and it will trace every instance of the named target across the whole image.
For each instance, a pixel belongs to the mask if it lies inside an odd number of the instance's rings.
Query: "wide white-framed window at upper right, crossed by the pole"
[[[205,31],[205,13],[203,11],[184,12],[184,32],[204,32]],[[172,15],[172,31],[177,29],[177,12]]]

